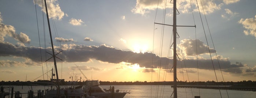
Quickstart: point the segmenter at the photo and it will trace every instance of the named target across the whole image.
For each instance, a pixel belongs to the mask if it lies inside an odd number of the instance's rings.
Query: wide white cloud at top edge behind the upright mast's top
[[[183,1],[177,1],[177,9],[179,12],[182,13],[188,13],[191,12],[191,6],[190,6],[191,0],[183,0]],[[220,10],[223,3],[216,4],[213,1],[214,0],[201,0],[202,4],[204,6],[205,14],[211,14],[216,10]],[[193,11],[198,12],[198,8],[195,8],[197,6],[196,1],[191,2],[192,6],[194,7]],[[199,9],[200,11],[203,11],[203,8],[201,7],[201,3],[199,3]],[[159,9],[164,9],[164,5],[166,5],[166,8],[173,8],[173,4],[167,2],[165,3],[165,0],[137,0],[136,6],[131,10],[131,12],[135,14],[141,14],[145,15],[149,13],[150,11],[156,10],[157,6]]]

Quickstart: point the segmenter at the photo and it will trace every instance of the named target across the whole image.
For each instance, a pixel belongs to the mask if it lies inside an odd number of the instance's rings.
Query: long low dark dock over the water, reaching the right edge
[[[183,85],[183,86],[177,86],[177,88],[203,88],[203,89],[218,89],[218,90],[256,91],[256,87],[239,87],[239,86],[184,86]]]

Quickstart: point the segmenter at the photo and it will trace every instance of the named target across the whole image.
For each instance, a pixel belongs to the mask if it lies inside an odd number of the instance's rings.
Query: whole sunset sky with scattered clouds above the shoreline
[[[177,25],[196,25],[177,27],[178,80],[255,81],[256,1],[197,1],[177,0]],[[44,3],[0,2],[0,80],[49,80],[53,63]],[[89,80],[110,82],[173,80],[172,27],[154,24],[172,25],[172,1],[47,0],[47,5],[55,54],[62,51],[60,79],[83,81],[84,73]]]

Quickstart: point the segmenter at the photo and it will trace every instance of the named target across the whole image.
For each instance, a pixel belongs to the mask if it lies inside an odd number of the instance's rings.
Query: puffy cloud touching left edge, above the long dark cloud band
[[[0,12],[0,42],[4,41],[4,37],[7,35],[14,38],[16,41],[22,42],[22,43],[30,43],[29,36],[27,36],[25,33],[17,34],[15,33],[15,28],[11,25],[5,25],[2,23],[3,19],[1,18],[1,12]]]

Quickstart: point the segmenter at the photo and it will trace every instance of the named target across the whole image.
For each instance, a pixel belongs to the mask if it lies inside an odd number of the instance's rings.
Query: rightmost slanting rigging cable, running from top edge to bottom
[[[204,12],[203,3],[202,3],[201,0],[200,0],[200,2],[201,2],[202,8],[203,8],[203,12]],[[212,40],[212,45],[213,45],[213,47],[214,47],[214,51],[215,51],[216,58],[217,58],[217,61],[218,61],[218,65],[219,65],[219,68],[220,68],[220,63],[219,63],[218,55],[217,55],[217,53],[216,53],[216,49],[215,49],[215,46],[214,46],[214,42],[213,42],[213,39],[212,39],[211,31],[210,31],[210,28],[209,28],[209,24],[208,24],[208,21],[207,21],[205,12],[204,12],[204,17],[205,17],[205,20],[206,20],[206,24],[207,24],[207,27],[208,27],[208,30],[209,30],[209,34],[210,34],[211,40]],[[225,82],[221,68],[220,68],[220,73],[221,73],[221,75],[222,75],[223,82]],[[226,85],[225,85],[225,87],[226,87]],[[227,90],[226,90],[226,92],[227,92]],[[227,97],[229,98],[229,94],[228,94],[228,93],[227,93]]]

